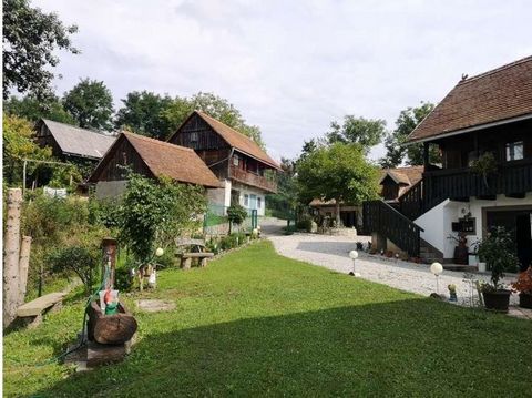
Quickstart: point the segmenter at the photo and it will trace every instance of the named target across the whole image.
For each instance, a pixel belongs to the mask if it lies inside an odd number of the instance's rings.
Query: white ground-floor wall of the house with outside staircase
[[[498,207],[503,210],[511,206],[532,206],[532,192],[526,193],[524,198],[507,197],[498,195],[494,201],[470,198],[470,202],[454,202],[444,201],[438,206],[431,208],[418,217],[415,223],[424,229],[421,232],[421,237],[430,243],[432,246],[443,253],[446,259],[451,261],[454,256],[456,241],[449,239],[448,236],[457,236],[452,232],[452,223],[458,222],[464,214],[471,212],[471,217],[475,221],[475,233],[467,235],[468,246],[471,247],[475,242],[481,239],[487,231],[484,228],[483,210],[488,207]]]

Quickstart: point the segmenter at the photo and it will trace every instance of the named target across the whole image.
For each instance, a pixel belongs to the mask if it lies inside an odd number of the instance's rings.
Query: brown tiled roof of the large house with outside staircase
[[[461,80],[412,131],[408,141],[532,118],[532,57]],[[466,131],[464,131],[466,132]]]

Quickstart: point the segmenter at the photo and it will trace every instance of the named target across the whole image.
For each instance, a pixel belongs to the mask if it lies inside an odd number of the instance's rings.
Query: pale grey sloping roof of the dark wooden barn
[[[70,124],[41,119],[64,154],[102,159],[116,140],[115,136],[96,133]]]

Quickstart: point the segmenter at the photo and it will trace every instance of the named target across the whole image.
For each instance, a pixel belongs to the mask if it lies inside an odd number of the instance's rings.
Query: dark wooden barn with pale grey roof
[[[116,136],[74,125],[41,119],[35,125],[35,142],[51,147],[53,156],[63,162],[96,164],[109,151]]]

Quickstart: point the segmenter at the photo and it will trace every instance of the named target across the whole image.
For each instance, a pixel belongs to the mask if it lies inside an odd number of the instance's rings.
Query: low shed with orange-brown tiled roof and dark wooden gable
[[[95,167],[88,183],[96,197],[120,195],[127,170],[146,177],[166,176],[180,183],[218,188],[219,181],[191,149],[133,133],[121,133]]]

